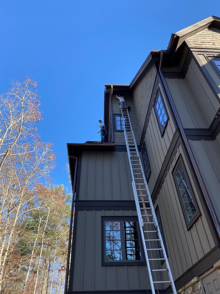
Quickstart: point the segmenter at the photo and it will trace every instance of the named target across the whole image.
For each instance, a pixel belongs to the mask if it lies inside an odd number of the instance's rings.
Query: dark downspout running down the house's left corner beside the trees
[[[67,250],[67,267],[66,267],[66,278],[65,278],[65,286],[64,286],[64,294],[67,294],[67,287],[69,281],[69,267],[70,267],[70,249],[71,249],[71,237],[72,237],[72,223],[73,223],[73,212],[74,212],[74,204],[75,204],[75,188],[76,188],[76,174],[77,174],[77,164],[78,158],[76,156],[68,155],[68,157],[76,160],[75,164],[75,174],[72,188],[72,208],[71,208],[71,216],[70,216],[70,233],[69,233],[69,242],[68,242],[68,250]]]

